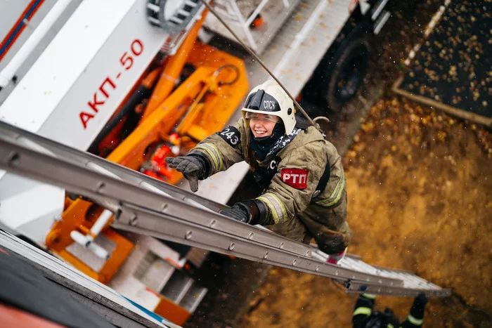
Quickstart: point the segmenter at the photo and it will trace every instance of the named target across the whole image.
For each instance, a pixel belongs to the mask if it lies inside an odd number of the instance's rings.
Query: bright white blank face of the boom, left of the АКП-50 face
[[[132,2],[84,1],[0,107],[1,119],[37,132]]]

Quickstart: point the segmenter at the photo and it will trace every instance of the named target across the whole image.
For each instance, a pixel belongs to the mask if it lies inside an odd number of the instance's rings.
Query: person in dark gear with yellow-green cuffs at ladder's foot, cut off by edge
[[[412,308],[401,324],[390,308],[384,309],[384,312],[375,310],[375,295],[361,294],[358,296],[352,323],[354,328],[418,328],[422,327],[424,320],[424,310],[427,304],[427,296],[421,293],[413,299]]]

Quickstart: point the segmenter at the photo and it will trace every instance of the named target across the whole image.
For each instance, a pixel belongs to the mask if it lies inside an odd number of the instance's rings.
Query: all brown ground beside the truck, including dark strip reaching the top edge
[[[452,288],[452,299],[429,302],[426,327],[474,327],[492,313],[491,133],[389,91],[443,2],[394,8],[373,40],[371,78],[324,127],[344,155],[349,252]],[[330,280],[218,258],[208,269],[216,288],[186,327],[350,327],[355,299]],[[401,319],[411,302],[377,299]]]

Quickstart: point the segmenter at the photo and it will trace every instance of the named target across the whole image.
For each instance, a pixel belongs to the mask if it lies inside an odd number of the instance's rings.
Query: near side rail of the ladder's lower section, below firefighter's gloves
[[[115,228],[129,232],[150,235],[165,240],[188,244],[189,246],[205,248],[221,254],[228,254],[250,261],[266,263],[313,273],[323,277],[335,279],[360,280],[368,284],[388,284],[390,286],[401,286],[401,280],[384,278],[377,275],[368,275],[355,270],[349,270],[325,262],[316,261],[308,256],[291,254],[283,249],[258,244],[251,240],[228,235],[209,228],[195,225],[179,218],[171,218],[155,211],[142,209],[138,206],[121,207],[122,214],[113,224]],[[136,221],[132,218],[138,218]],[[133,222],[133,223],[130,223]],[[383,279],[382,279],[383,278]]]

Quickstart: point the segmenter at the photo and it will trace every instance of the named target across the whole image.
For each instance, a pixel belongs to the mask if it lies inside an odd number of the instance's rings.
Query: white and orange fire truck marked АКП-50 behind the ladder
[[[337,110],[361,86],[387,3],[210,1],[227,28],[200,0],[2,1],[0,119],[186,189],[164,159],[237,121],[270,78],[240,41],[292,95]],[[226,204],[247,169],[200,182],[198,195]],[[0,204],[18,236],[171,322],[207,293],[188,270],[205,251],[116,230],[86,197],[0,171]]]

